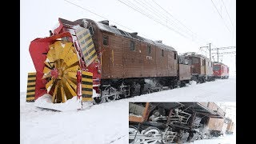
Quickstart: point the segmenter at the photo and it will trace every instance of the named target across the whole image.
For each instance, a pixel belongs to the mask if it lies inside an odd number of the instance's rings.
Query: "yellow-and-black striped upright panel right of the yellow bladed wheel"
[[[93,101],[93,73],[82,71],[82,101]]]

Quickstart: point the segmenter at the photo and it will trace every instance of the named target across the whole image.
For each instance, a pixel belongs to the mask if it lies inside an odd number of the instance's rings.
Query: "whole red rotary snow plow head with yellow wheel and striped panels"
[[[98,84],[94,69],[100,67],[100,61],[85,20],[59,18],[59,26],[54,33],[50,31],[50,37],[30,43],[30,56],[36,72],[28,74],[26,102],[35,102],[43,95],[50,96],[52,103],[74,97],[81,104],[93,101],[93,84],[95,90]]]

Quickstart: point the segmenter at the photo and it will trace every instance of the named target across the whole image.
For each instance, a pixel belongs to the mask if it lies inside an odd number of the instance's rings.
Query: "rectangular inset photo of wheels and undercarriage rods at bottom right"
[[[236,143],[235,102],[129,102],[129,143]]]

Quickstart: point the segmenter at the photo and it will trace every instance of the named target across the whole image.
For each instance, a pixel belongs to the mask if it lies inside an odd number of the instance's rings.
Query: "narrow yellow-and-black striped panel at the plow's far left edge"
[[[34,102],[36,73],[27,76],[26,102]]]

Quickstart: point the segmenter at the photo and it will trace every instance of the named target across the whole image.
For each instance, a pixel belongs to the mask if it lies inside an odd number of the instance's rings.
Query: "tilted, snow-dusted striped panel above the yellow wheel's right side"
[[[78,38],[78,43],[82,49],[82,55],[85,59],[86,66],[89,66],[97,58],[90,30],[81,27],[75,30],[75,32]]]

